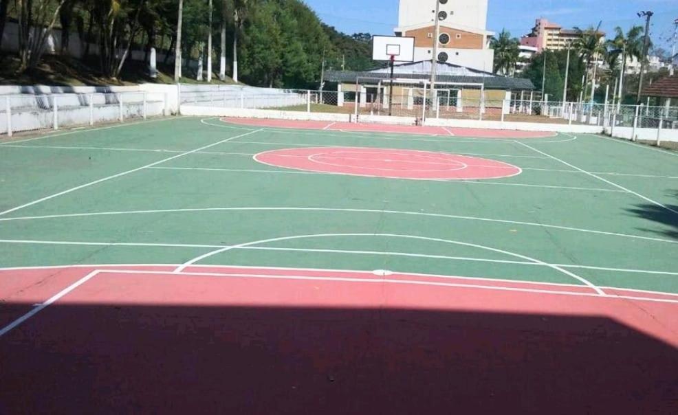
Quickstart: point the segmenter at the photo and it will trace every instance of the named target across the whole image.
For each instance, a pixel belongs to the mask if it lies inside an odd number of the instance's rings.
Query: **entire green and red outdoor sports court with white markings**
[[[215,117],[3,141],[0,413],[670,413],[677,157]]]

